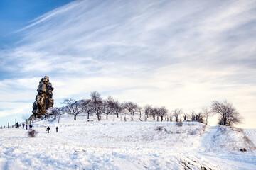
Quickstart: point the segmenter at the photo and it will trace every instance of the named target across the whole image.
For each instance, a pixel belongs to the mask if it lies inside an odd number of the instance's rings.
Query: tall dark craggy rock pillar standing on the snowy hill
[[[53,107],[53,89],[49,77],[46,76],[41,79],[37,89],[36,101],[33,103],[32,113],[35,118],[40,118],[48,108]]]

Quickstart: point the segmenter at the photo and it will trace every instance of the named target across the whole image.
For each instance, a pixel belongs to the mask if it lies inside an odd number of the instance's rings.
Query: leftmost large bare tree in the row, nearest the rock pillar
[[[76,120],[77,115],[83,113],[82,103],[75,101],[73,98],[65,98],[63,103],[65,106],[65,111],[70,115],[74,115],[74,120]]]

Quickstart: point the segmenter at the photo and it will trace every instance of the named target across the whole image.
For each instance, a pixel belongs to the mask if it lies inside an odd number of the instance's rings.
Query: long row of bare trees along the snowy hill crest
[[[137,103],[132,101],[121,103],[118,100],[108,96],[107,99],[102,99],[100,94],[97,91],[92,91],[90,93],[90,99],[75,101],[73,98],[65,98],[63,101],[65,107],[61,108],[51,108],[50,114],[55,115],[55,118],[60,120],[61,114],[69,113],[74,115],[74,120],[76,120],[77,115],[83,113],[87,115],[87,119],[90,118],[90,115],[97,115],[97,120],[101,120],[102,114],[106,115],[106,119],[109,118],[109,115],[116,115],[117,118],[119,114],[124,114],[124,120],[126,121],[126,115],[131,116],[131,120],[134,119],[135,114],[139,114],[139,119],[146,121],[149,117],[153,120],[161,120],[164,118],[167,121],[178,122],[183,120],[192,120],[198,121],[201,123],[208,124],[208,118],[214,114],[219,115],[218,123],[220,125],[226,124],[235,124],[241,123],[242,117],[240,113],[236,111],[232,103],[228,101],[213,101],[210,107],[203,107],[201,111],[191,113],[184,113],[182,108],[176,108],[173,111],[169,112],[165,106],[153,107],[151,105],[146,105],[143,108],[140,107]]]

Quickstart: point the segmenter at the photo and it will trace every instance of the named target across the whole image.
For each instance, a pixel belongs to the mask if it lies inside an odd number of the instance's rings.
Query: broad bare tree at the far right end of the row
[[[236,108],[233,106],[232,103],[228,101],[213,101],[211,105],[211,109],[213,113],[218,114],[219,118],[219,125],[231,125],[242,123],[242,116]]]

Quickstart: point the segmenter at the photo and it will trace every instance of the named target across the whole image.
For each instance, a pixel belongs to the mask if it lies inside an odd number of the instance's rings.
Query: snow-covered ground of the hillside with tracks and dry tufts
[[[256,130],[86,119],[41,120],[34,138],[0,130],[0,169],[256,169]]]

